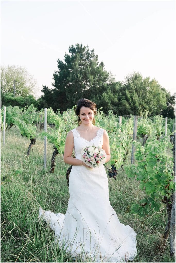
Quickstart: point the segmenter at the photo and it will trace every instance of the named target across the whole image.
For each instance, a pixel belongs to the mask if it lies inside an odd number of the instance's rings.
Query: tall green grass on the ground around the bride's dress
[[[73,262],[70,255],[54,242],[53,231],[38,220],[39,205],[45,210],[65,214],[69,190],[62,156],[56,158],[56,168],[49,174],[53,147],[47,143],[47,170],[43,167],[43,140],[36,138],[30,156],[30,143],[12,127],[1,146],[1,176],[21,169],[21,175],[4,183],[1,191],[1,262]],[[2,145],[2,144],[1,144]],[[137,256],[134,262],[174,262],[169,257],[169,242],[162,246],[166,209],[146,218],[130,214],[131,203],[139,202],[144,193],[138,182],[128,179],[123,171],[116,180],[109,179],[110,203],[121,223],[136,231]],[[77,259],[78,261],[78,259]]]

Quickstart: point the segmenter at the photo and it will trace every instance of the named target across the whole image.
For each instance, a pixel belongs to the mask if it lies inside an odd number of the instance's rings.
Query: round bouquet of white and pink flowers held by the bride
[[[105,150],[95,146],[83,148],[81,151],[81,161],[92,168],[100,166],[106,161]]]

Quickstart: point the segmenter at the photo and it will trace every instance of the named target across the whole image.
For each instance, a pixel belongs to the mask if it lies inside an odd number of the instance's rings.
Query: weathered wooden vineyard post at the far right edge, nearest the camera
[[[174,156],[174,183],[175,183],[175,132],[173,136],[173,156]],[[172,209],[170,216],[170,256],[175,259],[175,193],[172,195]]]

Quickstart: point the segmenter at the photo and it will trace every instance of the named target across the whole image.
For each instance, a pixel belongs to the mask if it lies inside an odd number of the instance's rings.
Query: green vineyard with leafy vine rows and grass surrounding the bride
[[[52,231],[41,227],[37,213],[39,204],[56,213],[66,211],[69,166],[62,157],[66,135],[78,125],[74,108],[62,113],[49,108],[47,118],[44,109],[37,112],[33,104],[1,110],[1,262],[71,261],[53,243]],[[96,126],[107,130],[110,139],[111,160],[105,164],[110,202],[123,224],[136,229],[135,262],[174,262],[169,230],[175,120],[149,118],[146,112],[137,117],[135,137],[134,118],[112,111],[105,115],[102,108],[95,117]]]

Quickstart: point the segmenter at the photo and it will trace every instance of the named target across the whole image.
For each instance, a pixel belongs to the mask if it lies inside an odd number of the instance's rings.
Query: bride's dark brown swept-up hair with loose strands
[[[79,99],[76,102],[76,109],[75,109],[75,114],[77,116],[80,114],[80,109],[81,109],[82,106],[93,110],[94,115],[97,114],[96,103],[90,101],[89,99]],[[77,122],[79,122],[79,125],[81,124],[80,117],[78,118]],[[93,119],[92,123],[95,125],[95,118]]]

